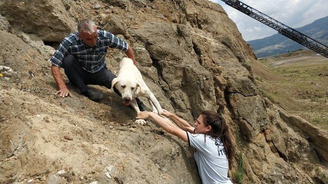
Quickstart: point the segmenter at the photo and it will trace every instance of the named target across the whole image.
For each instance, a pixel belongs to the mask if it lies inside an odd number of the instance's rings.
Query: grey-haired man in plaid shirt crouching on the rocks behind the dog
[[[111,88],[112,80],[116,76],[106,67],[107,48],[125,51],[136,66],[138,63],[126,41],[108,31],[97,30],[92,20],[79,21],[77,29],[78,32],[64,38],[58,50],[50,58],[51,73],[59,87],[56,94],[63,98],[72,97],[59,72],[59,68],[63,67],[67,78],[80,89],[81,94],[93,101],[99,101],[103,98],[103,94],[93,91],[87,85],[101,85]],[[115,87],[113,89],[120,96],[119,91]],[[144,104],[139,99],[137,102],[139,108],[144,109]]]

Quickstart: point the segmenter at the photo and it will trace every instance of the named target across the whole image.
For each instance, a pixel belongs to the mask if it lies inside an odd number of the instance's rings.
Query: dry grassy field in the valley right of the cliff
[[[262,70],[262,63],[268,66],[271,73]],[[252,67],[257,69],[254,70],[254,78],[262,97],[328,130],[327,58],[300,51],[297,54],[262,58],[260,63]],[[270,77],[272,75],[274,77]]]

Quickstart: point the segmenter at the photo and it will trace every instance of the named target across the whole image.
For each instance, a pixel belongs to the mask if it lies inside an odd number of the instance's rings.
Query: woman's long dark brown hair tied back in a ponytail
[[[213,137],[220,137],[224,146],[224,152],[226,152],[229,161],[229,169],[231,169],[234,150],[231,141],[229,127],[226,121],[218,113],[210,110],[202,111],[200,115],[202,115],[204,118],[205,126],[211,125],[212,127],[212,129],[207,133],[207,135]]]

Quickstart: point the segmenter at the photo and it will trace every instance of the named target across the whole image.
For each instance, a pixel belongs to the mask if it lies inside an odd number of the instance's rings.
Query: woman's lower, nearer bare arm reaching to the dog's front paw
[[[182,141],[188,142],[188,136],[186,131],[181,130],[180,128],[174,126],[174,124],[154,112],[142,111],[137,114],[137,119],[148,119],[151,118],[154,122],[166,130],[168,133],[179,137]]]

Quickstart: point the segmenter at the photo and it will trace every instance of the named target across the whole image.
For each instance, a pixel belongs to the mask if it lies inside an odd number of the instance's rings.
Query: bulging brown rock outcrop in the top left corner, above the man
[[[44,41],[61,41],[76,31],[76,23],[60,0],[1,1],[0,13],[10,25]]]

